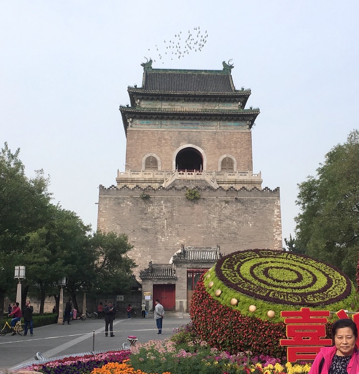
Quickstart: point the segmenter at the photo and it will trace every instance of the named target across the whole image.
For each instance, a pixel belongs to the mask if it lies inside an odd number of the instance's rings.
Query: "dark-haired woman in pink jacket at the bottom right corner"
[[[309,374],[359,374],[359,353],[355,346],[358,330],[352,320],[338,320],[332,328],[334,345],[316,355]]]

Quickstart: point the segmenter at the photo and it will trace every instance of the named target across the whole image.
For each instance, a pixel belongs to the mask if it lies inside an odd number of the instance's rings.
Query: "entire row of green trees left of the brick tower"
[[[25,175],[19,150],[5,143],[0,152],[0,309],[6,295],[14,300],[14,266],[26,266],[22,299],[27,292],[41,299],[57,296],[58,280],[66,277],[66,291],[78,310],[76,295],[83,291],[113,294],[133,283],[132,246],[126,235],[91,233],[75,212],[50,203],[49,180],[42,170]]]

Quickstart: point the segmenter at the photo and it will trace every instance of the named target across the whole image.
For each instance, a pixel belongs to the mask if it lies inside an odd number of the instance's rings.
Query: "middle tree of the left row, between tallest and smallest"
[[[40,314],[46,296],[58,293],[58,279],[67,277],[69,285],[77,288],[91,280],[95,261],[88,251],[90,226],[58,205],[49,204],[44,214],[46,223],[28,234],[25,253],[27,281],[41,296]]]

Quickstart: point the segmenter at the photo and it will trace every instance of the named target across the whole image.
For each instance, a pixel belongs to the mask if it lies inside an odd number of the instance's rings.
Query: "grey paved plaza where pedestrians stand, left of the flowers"
[[[154,318],[141,317],[125,319],[116,318],[113,322],[114,337],[105,337],[104,319],[86,319],[72,321],[71,325],[48,325],[34,328],[34,336],[30,331],[26,337],[6,334],[0,337],[0,368],[34,361],[37,352],[45,358],[70,355],[73,353],[91,352],[92,350],[109,350],[121,348],[128,343],[128,336],[136,336],[138,342],[165,340],[173,334],[173,329],[190,322],[190,318],[167,317],[163,320],[162,335],[156,335]],[[93,349],[94,347],[94,349]]]

